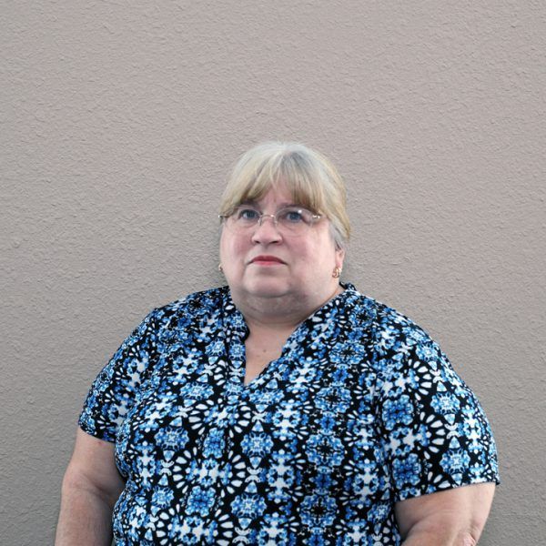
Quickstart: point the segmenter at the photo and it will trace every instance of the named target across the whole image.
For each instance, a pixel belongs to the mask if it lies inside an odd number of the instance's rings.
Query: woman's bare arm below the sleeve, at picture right
[[[489,515],[494,483],[422,495],[395,505],[405,546],[474,546]]]

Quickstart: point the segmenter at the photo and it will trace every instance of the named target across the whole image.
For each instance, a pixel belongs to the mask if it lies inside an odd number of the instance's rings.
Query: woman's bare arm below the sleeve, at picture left
[[[112,509],[124,485],[114,461],[114,444],[77,430],[63,480],[56,546],[109,546]]]

